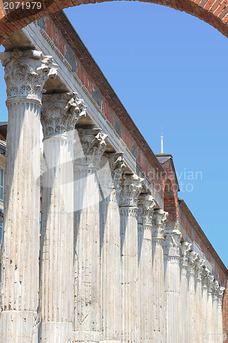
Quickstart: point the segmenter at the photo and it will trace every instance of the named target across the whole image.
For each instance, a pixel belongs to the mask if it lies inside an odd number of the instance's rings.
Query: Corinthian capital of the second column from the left
[[[77,93],[45,94],[42,96],[41,123],[44,139],[66,134],[75,128],[81,117],[86,116],[84,100]]]

